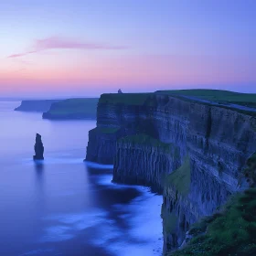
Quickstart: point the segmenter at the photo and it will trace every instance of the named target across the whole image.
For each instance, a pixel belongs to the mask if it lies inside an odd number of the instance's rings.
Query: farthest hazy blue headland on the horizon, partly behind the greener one
[[[52,103],[59,100],[35,100],[35,101],[21,101],[15,111],[19,112],[47,112]]]

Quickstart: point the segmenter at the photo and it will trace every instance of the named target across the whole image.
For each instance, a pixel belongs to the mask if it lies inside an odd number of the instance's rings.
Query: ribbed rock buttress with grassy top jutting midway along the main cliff
[[[118,140],[113,181],[147,185],[162,191],[165,176],[179,165],[179,149],[175,145],[138,133]]]

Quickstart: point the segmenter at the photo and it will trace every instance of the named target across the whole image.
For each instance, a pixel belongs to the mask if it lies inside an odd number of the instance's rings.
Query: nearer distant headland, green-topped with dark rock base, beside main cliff
[[[68,99],[55,102],[48,112],[43,113],[44,119],[96,119],[97,98]]]

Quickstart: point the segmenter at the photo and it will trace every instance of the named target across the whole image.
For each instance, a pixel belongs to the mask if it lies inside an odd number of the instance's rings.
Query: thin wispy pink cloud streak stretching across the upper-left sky
[[[79,40],[72,40],[69,38],[63,38],[63,37],[48,37],[45,39],[38,39],[35,41],[34,46],[32,50],[23,52],[23,53],[17,53],[8,56],[7,58],[19,58],[24,57],[29,54],[37,53],[38,51],[48,50],[48,49],[60,49],[60,48],[66,48],[66,49],[123,49],[125,47],[122,46],[112,46],[109,44],[99,44],[99,43],[89,43],[89,42],[82,42]]]

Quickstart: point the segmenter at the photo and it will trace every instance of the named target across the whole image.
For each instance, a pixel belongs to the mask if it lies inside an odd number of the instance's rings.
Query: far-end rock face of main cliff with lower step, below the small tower
[[[113,164],[116,142],[126,135],[138,132],[142,106],[99,103],[97,128],[89,132],[86,160],[100,164]]]

